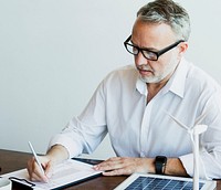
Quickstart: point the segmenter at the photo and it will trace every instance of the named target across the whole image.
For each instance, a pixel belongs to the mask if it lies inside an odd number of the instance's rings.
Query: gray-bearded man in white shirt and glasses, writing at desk
[[[125,41],[136,66],[106,76],[84,112],[52,138],[41,157],[45,175],[29,160],[30,178],[48,181],[54,165],[92,152],[107,133],[117,157],[94,167],[103,175],[193,176],[190,136],[169,114],[188,127],[208,125],[200,136],[200,178],[220,178],[221,88],[183,59],[189,33],[189,15],[173,1],[143,7]]]

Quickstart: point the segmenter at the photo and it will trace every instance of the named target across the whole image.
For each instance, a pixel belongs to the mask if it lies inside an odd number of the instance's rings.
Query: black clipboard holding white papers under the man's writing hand
[[[46,182],[33,182],[29,180],[29,173],[27,169],[17,170],[2,175],[1,177],[9,178],[14,183],[29,187],[30,189],[63,189],[91,178],[101,176],[102,171],[95,171],[93,165],[88,165],[78,160],[66,160],[61,165],[55,166],[53,175],[50,181]]]

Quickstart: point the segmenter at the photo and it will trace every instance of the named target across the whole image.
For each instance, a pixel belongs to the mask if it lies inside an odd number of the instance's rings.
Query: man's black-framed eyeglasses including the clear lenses
[[[183,40],[179,40],[179,41],[172,43],[171,45],[169,45],[158,52],[155,52],[155,51],[151,51],[148,49],[140,49],[140,48],[129,43],[130,39],[131,39],[131,35],[129,35],[129,38],[124,42],[126,50],[129,53],[131,53],[133,55],[138,55],[139,52],[141,52],[144,57],[146,57],[147,60],[150,60],[150,61],[157,61],[160,55],[162,55],[164,53],[168,52],[169,50],[176,48],[179,43],[185,42]]]

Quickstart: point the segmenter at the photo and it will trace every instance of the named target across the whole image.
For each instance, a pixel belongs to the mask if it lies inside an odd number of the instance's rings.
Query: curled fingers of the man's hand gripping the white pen
[[[42,161],[43,163],[43,161]],[[43,166],[43,168],[45,168]],[[49,178],[46,177],[45,173],[42,173],[39,165],[36,163],[34,157],[32,157],[29,161],[28,161],[28,166],[27,166],[29,176],[30,176],[30,180],[32,181],[44,181],[48,182]],[[49,172],[49,171],[48,171]]]

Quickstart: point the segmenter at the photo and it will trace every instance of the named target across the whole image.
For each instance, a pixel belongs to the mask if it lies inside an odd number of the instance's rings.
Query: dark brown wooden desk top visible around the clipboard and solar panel
[[[27,167],[27,161],[30,159],[32,155],[27,152],[19,151],[10,151],[0,149],[0,175],[11,172],[14,170],[23,169]],[[93,161],[94,163],[94,161]],[[122,181],[124,181],[126,177],[97,177],[95,179],[87,180],[80,184],[75,184],[73,187],[66,188],[67,190],[113,190],[117,187]],[[13,190],[21,190],[21,188],[13,188]],[[217,190],[221,190],[221,181],[218,181]]]

